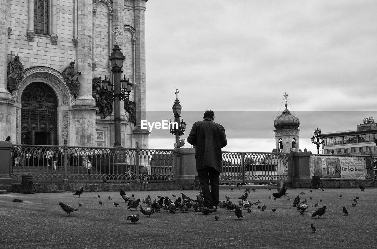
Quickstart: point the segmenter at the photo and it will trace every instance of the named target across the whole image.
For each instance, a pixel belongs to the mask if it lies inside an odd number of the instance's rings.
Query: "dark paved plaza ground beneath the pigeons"
[[[230,186],[221,186],[220,199],[225,200],[227,195],[238,204],[237,198],[244,194],[245,188],[251,187],[242,186],[239,190],[233,186],[231,191]],[[3,194],[0,195],[0,248],[376,248],[377,188],[314,189],[313,192],[289,188],[290,201],[285,197],[270,199],[274,192],[274,188],[269,191],[268,187],[259,186],[256,192],[251,191],[247,200],[252,203],[260,200],[267,209],[262,212],[255,205],[250,213],[242,209],[241,219],[237,219],[234,211],[222,208],[208,215],[190,209],[176,214],[161,210],[147,217],[135,209],[126,209],[127,203],[119,192],[84,191],[81,197],[74,196],[73,192]],[[183,190],[183,193],[196,198],[199,191]],[[134,194],[141,200],[148,194],[152,200],[163,195],[174,201],[181,191],[126,194]],[[293,207],[297,195],[301,200],[308,200],[308,212],[303,215]],[[356,207],[352,207],[355,196],[360,198]],[[24,202],[10,202],[14,198]],[[102,206],[98,200],[103,202]],[[59,202],[79,211],[66,216]],[[120,205],[114,206],[113,202]],[[318,208],[312,207],[316,203],[318,207],[327,206],[323,218],[311,217]],[[342,207],[346,207],[349,216],[343,215]],[[127,215],[133,214],[140,215],[137,223],[126,220]],[[219,220],[215,220],[215,215]],[[317,232],[311,231],[310,224]]]

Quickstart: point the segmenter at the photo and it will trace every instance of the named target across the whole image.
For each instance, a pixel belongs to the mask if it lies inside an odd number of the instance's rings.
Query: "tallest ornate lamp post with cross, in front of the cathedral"
[[[115,45],[113,52],[109,56],[111,63],[111,72],[113,73],[113,82],[111,84],[110,80],[102,81],[103,88],[107,89],[110,92],[114,99],[114,146],[115,148],[122,148],[121,143],[121,116],[120,116],[120,100],[127,100],[129,98],[132,83],[129,80],[124,78],[122,79],[121,74],[123,74],[123,61],[126,59],[126,56],[121,52],[121,48],[118,44],[118,35],[121,35],[121,32],[118,31],[118,27],[115,28],[115,31],[112,32],[115,34]],[[127,93],[126,93],[127,92]]]

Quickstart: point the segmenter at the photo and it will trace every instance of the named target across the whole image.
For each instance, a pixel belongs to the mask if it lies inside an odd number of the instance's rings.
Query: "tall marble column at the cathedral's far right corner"
[[[136,125],[133,134],[135,141],[141,148],[148,148],[148,136],[150,132],[141,129],[141,120],[146,120],[146,76],[145,76],[145,10],[146,0],[135,0],[135,32],[136,32],[136,68],[135,68],[135,101],[136,101]]]

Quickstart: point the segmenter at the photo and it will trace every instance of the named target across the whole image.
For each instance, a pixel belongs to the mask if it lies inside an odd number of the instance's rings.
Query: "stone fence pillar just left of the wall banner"
[[[296,188],[309,188],[311,176],[309,172],[310,152],[293,152],[293,183]]]

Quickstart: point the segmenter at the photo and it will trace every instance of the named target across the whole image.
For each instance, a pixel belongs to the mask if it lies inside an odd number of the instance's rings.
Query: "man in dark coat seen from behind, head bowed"
[[[213,122],[214,119],[213,111],[205,111],[203,121],[193,124],[187,142],[195,146],[196,172],[202,187],[204,206],[216,211],[220,198],[221,148],[227,145],[227,138],[224,127]]]

